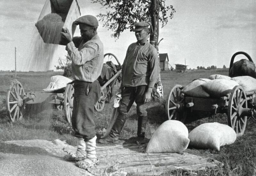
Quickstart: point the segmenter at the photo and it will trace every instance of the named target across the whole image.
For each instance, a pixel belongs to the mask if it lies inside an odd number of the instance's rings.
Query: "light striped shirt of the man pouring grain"
[[[72,77],[74,80],[94,82],[100,76],[104,53],[103,43],[96,34],[84,42],[82,37],[74,37],[66,46],[72,60]]]

